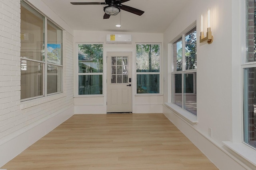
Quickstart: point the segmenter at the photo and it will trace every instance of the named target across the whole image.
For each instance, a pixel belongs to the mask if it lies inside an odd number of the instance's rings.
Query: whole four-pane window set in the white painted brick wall
[[[62,92],[62,29],[24,1],[20,15],[21,100]]]

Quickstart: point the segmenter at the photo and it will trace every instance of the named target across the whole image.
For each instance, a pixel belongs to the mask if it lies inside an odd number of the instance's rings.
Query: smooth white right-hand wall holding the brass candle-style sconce
[[[196,2],[196,3],[195,3]],[[164,32],[163,60],[170,60],[168,43],[197,25],[197,124],[190,124],[164,105],[163,112],[218,168],[256,168],[226,149],[222,141],[242,142],[241,15],[244,0],[196,0],[189,2]],[[200,15],[211,10],[212,44],[199,43]],[[206,28],[204,29],[206,30]],[[206,34],[206,32],[204,32]],[[170,62],[169,62],[170,64]],[[164,102],[170,94],[170,70],[164,63]],[[167,72],[168,70],[168,72]],[[209,127],[212,137],[209,136]],[[256,155],[254,155],[256,156]]]

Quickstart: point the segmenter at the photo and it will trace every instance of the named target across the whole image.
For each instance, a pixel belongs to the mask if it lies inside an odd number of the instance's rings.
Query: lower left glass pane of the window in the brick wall
[[[21,60],[20,99],[43,95],[43,63]]]

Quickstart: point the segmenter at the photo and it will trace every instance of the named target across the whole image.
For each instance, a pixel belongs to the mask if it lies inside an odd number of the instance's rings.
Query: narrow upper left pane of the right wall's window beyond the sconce
[[[173,71],[182,71],[182,38],[173,43]]]

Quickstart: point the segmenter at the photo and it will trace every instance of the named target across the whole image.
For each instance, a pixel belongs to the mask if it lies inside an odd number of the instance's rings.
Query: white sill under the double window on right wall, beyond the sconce
[[[198,123],[197,117],[195,115],[193,115],[192,113],[189,113],[188,111],[180,108],[179,106],[172,104],[172,103],[165,103],[164,106],[168,107],[169,109],[171,109],[172,111],[174,111],[174,113],[180,117],[182,117],[183,119],[185,119],[186,121],[188,121],[188,123],[194,125]]]

